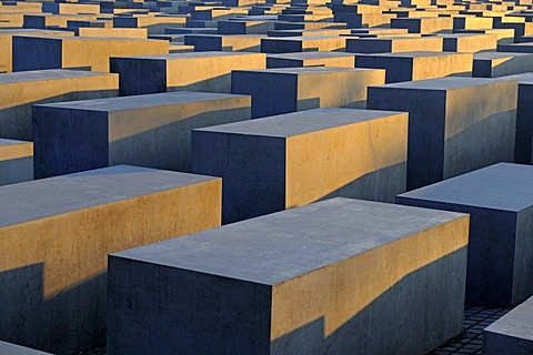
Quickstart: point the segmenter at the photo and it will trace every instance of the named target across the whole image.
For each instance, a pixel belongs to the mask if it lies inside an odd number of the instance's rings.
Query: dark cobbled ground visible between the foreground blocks
[[[463,333],[429,355],[481,354],[483,329],[509,311],[511,308],[466,307]],[[105,355],[105,347],[92,348],[76,355]]]

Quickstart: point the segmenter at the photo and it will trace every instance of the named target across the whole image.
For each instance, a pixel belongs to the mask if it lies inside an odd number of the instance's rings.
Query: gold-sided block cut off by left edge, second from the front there
[[[0,136],[31,141],[31,104],[118,95],[119,75],[40,70],[0,75]]]

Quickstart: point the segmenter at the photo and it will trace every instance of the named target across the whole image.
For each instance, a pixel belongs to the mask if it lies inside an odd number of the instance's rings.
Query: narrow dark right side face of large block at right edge
[[[514,250],[512,303],[517,304],[533,295],[533,207],[519,212]]]

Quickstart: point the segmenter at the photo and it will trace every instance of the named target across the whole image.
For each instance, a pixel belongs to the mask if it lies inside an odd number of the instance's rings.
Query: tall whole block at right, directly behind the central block
[[[368,108],[409,112],[408,190],[514,159],[516,80],[443,78],[369,88]]]

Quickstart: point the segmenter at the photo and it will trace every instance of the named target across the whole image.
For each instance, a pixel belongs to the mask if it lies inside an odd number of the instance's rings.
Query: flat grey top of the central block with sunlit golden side
[[[194,131],[288,138],[396,114],[402,114],[402,112],[358,109],[315,109],[214,125]]]

